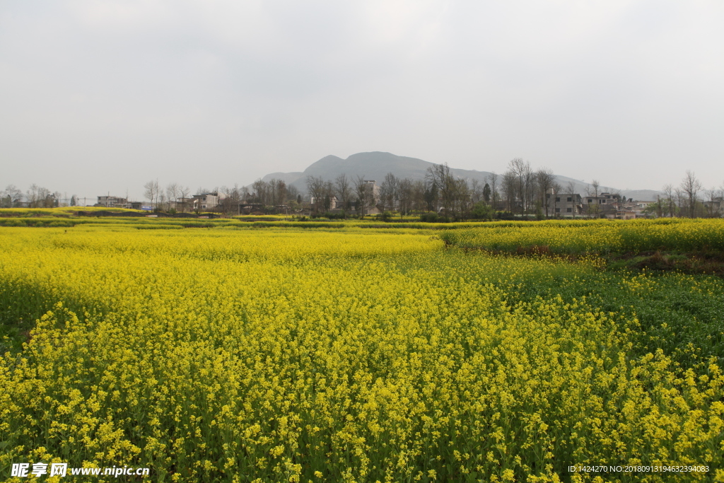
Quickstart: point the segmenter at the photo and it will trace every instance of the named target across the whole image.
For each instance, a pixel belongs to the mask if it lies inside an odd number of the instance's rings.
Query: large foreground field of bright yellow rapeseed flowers
[[[43,458],[150,466],[159,482],[557,482],[573,464],[724,456],[719,366],[631,358],[620,315],[586,301],[508,303],[559,262],[509,261],[496,286],[501,259],[413,232],[7,227],[0,241],[4,314],[50,309],[0,360],[2,471]]]

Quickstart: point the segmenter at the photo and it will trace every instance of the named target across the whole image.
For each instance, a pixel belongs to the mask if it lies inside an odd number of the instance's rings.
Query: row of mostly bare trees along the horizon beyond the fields
[[[363,176],[340,175],[333,181],[310,176],[306,180],[306,188],[308,199],[314,201],[312,209],[316,212],[329,210],[332,198],[336,196],[337,207],[347,212],[355,209],[357,214],[366,214],[371,206],[379,205],[383,210],[399,211],[400,214],[441,211],[450,219],[489,217],[495,211],[551,217],[556,213],[556,197],[548,194],[576,193],[572,181],[561,186],[550,169],[533,169],[528,161],[520,158],[511,160],[502,175],[492,172],[483,182],[455,177],[447,164],[434,164],[427,170],[424,180],[399,178],[388,173],[377,187]],[[192,195],[188,186],[173,182],[161,188],[158,180],[151,180],[144,185],[144,189],[146,199],[156,209],[193,209],[189,202]],[[593,180],[586,195],[598,197],[599,189],[599,182]],[[216,193],[219,196],[219,209],[227,214],[235,214],[243,203],[261,205],[265,211],[279,206],[292,211],[303,207],[298,189],[277,179],[269,182],[259,179],[250,187],[234,185],[214,190],[199,188],[196,194],[201,193]],[[687,171],[678,186],[665,185],[662,193],[663,196],[658,196],[657,201],[649,206],[649,211],[659,217],[721,216],[724,185],[704,189],[694,172]],[[77,204],[75,196],[70,198],[70,203],[63,203],[63,199],[61,193],[51,192],[35,184],[30,185],[25,193],[14,185],[7,185],[0,191],[0,207],[3,208],[51,208]],[[597,203],[588,206],[588,216],[596,217],[597,209]]]

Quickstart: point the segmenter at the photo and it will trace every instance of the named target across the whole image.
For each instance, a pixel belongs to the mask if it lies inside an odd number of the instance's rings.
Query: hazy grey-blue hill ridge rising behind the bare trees
[[[381,184],[387,173],[392,173],[396,177],[410,178],[411,180],[424,180],[427,169],[434,163],[424,161],[417,158],[408,158],[407,156],[397,156],[392,153],[383,153],[381,151],[372,151],[369,153],[358,153],[342,159],[338,156],[324,156],[324,158],[310,164],[303,172],[282,173],[276,172],[264,176],[262,180],[269,181],[273,179],[283,180],[287,185],[293,185],[301,193],[306,193],[306,180],[308,176],[321,176],[325,180],[332,180],[339,175],[348,175],[354,179],[358,175],[363,175],[366,180],[376,180],[377,184]],[[464,180],[479,180],[485,182],[490,175],[487,171],[476,171],[475,169],[457,169],[450,167],[450,173],[455,177]],[[498,173],[499,175],[501,173]],[[557,175],[557,182],[565,190],[568,182],[573,181],[576,187],[576,193],[586,194],[586,190],[590,188],[589,183],[581,180],[573,180],[573,178]],[[621,193],[626,198],[639,200],[654,200],[656,195],[660,194],[654,190],[618,190],[610,187],[599,188],[600,192]]]

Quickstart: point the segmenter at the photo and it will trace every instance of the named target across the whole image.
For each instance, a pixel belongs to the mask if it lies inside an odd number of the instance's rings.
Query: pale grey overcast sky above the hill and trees
[[[0,189],[143,197],[328,154],[724,182],[724,2],[0,2]]]

